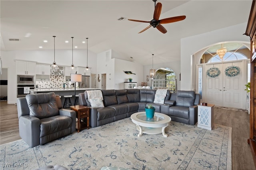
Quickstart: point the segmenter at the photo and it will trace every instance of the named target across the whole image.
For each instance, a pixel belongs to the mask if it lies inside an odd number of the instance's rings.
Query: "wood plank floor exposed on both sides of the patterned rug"
[[[249,115],[247,112],[214,108],[214,123],[232,127],[232,169],[255,170],[249,138]],[[20,139],[17,106],[0,102],[0,144]]]

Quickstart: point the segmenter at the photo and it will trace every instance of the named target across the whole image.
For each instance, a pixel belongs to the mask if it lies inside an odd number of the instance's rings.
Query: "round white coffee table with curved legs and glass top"
[[[131,115],[132,122],[136,124],[136,128],[140,131],[138,137],[142,133],[146,134],[160,134],[164,137],[168,134],[165,133],[165,128],[168,127],[172,120],[168,115],[155,112],[154,118],[147,118],[146,112],[138,112]]]

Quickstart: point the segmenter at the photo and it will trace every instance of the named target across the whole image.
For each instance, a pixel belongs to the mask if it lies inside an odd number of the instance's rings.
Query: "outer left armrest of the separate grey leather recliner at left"
[[[20,116],[20,137],[32,148],[40,144],[40,119],[34,116]]]

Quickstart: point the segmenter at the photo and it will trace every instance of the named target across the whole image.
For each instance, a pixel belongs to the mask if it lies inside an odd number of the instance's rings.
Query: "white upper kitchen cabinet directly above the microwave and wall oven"
[[[36,63],[28,61],[16,60],[16,74],[17,75],[35,75]]]

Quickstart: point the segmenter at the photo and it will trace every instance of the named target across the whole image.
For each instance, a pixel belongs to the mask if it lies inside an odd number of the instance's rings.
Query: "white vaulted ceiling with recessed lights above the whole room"
[[[86,49],[82,41],[89,38],[88,50],[112,49],[116,58],[142,65],[151,63],[152,53],[154,63],[177,61],[182,38],[245,23],[252,4],[251,0],[157,2],[162,3],[160,19],[181,15],[186,19],[163,24],[166,34],[153,27],[138,34],[149,24],[127,19],[152,20],[152,0],[1,0],[1,51],[53,49],[52,36],[56,36],[56,49],[71,49],[74,37],[77,49]],[[119,21],[120,17],[126,19]]]

